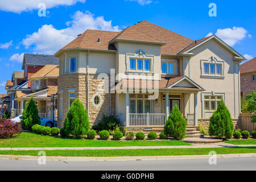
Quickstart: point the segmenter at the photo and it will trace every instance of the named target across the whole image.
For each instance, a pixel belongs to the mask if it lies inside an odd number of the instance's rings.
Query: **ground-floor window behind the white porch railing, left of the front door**
[[[150,113],[151,100],[147,94],[130,94],[129,112],[130,113]]]

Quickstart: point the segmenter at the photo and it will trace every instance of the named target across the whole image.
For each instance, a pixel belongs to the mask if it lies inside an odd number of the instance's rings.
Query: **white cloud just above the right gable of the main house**
[[[209,33],[210,35],[212,33]],[[221,38],[225,43],[229,44],[229,46],[234,46],[236,43],[245,39],[246,37],[251,38],[252,36],[248,34],[248,31],[243,27],[233,27],[233,28],[224,28],[218,29],[216,34],[219,38]]]

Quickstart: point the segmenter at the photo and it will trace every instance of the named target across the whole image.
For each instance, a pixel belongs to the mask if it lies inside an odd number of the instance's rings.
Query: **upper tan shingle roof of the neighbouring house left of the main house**
[[[58,65],[47,64],[43,68],[39,69],[31,78],[35,77],[58,77],[59,76],[59,68]]]

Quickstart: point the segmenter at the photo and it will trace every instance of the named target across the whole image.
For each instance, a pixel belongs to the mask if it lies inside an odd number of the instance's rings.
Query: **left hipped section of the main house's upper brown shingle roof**
[[[100,31],[100,30],[86,30],[83,34],[74,39],[71,43],[64,46],[62,49],[72,48],[87,48],[87,49],[105,49],[116,50],[115,47],[109,44],[118,32]],[[100,43],[98,43],[100,39]]]

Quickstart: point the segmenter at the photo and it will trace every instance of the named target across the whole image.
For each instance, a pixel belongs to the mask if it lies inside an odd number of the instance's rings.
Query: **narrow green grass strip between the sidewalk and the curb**
[[[256,153],[256,147],[225,147],[225,148],[161,148],[161,149],[117,149],[117,150],[47,150],[46,156],[166,156],[166,155],[208,155],[216,154]],[[0,155],[32,155],[38,156],[39,151],[0,151]]]

